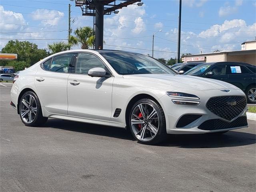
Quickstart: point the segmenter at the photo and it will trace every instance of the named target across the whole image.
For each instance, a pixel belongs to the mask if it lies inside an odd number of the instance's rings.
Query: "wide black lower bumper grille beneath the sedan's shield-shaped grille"
[[[247,118],[246,116],[238,117],[236,120],[232,122],[226,122],[220,119],[210,119],[203,122],[198,129],[201,130],[219,130],[219,129],[230,129],[236,127],[247,126]]]

